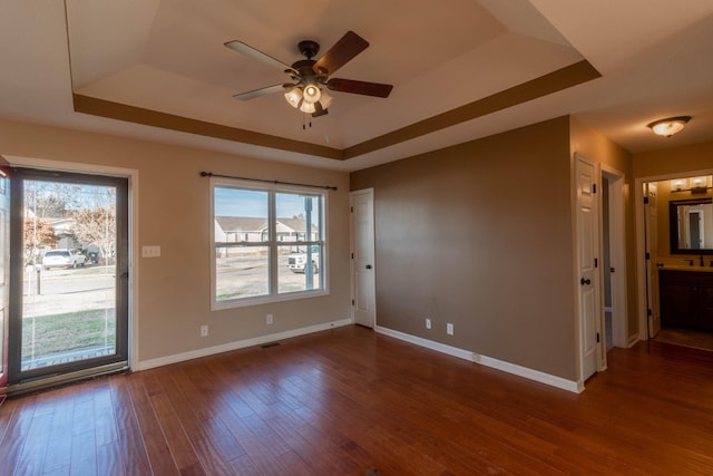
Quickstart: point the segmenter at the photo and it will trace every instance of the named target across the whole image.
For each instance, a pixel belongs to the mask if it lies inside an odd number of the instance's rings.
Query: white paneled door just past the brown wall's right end
[[[579,322],[582,326],[582,380],[597,370],[602,303],[597,270],[598,215],[595,200],[595,166],[577,156],[577,242],[579,271]]]

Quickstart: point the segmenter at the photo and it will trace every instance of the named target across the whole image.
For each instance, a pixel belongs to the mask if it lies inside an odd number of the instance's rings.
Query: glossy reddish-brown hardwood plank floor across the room
[[[575,395],[340,328],[9,399],[0,474],[713,474],[713,353],[608,367]]]

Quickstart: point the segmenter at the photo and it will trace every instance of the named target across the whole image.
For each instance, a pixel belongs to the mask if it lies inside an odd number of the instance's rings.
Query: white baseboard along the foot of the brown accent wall
[[[518,377],[524,377],[529,380],[534,380],[540,383],[556,387],[563,390],[580,394],[584,390],[583,382],[563,379],[561,377],[553,376],[549,373],[540,372],[539,370],[533,370],[527,367],[517,366],[515,363],[506,362],[502,360],[494,359],[491,357],[481,356],[479,353],[470,352],[468,350],[459,349],[457,347],[448,346],[432,340],[423,339],[420,337],[411,336],[408,333],[394,331],[393,329],[383,328],[380,326],[374,327],[374,330],[384,336],[393,337],[399,340],[403,340],[416,346],[424,347],[427,349],[436,350],[437,352],[447,353],[459,359],[468,360],[481,366],[490,367],[504,372],[512,373]]]

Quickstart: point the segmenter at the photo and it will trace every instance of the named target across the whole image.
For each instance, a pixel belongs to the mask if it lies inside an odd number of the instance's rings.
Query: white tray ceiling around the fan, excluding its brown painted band
[[[303,116],[287,79],[223,46],[284,62],[348,30],[370,47],[334,77],[388,82],[387,99],[333,93]],[[0,118],[354,171],[573,114],[632,153],[713,139],[713,2],[682,0],[0,0]],[[339,150],[587,60],[602,77],[344,161],[75,113],[72,93]],[[693,119],[666,139],[649,122]]]

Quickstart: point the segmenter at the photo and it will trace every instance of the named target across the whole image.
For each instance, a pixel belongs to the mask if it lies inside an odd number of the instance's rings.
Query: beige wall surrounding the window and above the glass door
[[[141,361],[350,318],[345,173],[13,122],[0,122],[0,154],[138,171],[134,256],[140,245],[162,246],[159,259],[133,263]],[[329,194],[330,295],[212,312],[211,194],[201,171],[338,186]]]

